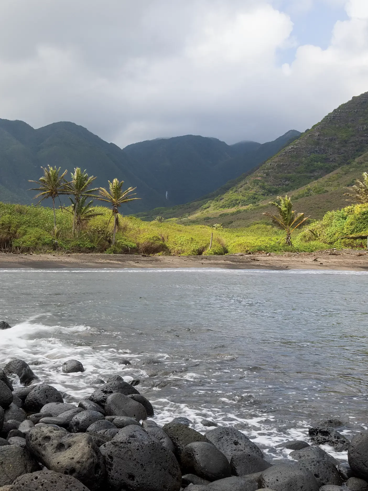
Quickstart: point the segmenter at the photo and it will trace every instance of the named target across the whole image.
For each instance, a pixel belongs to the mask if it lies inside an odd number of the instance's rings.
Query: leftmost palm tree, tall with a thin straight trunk
[[[39,191],[38,194],[33,199],[41,197],[37,205],[41,203],[42,200],[46,198],[51,198],[53,200],[53,232],[56,233],[56,214],[55,214],[55,198],[59,198],[61,194],[69,194],[67,189],[68,182],[65,179],[67,170],[60,174],[60,169],[51,167],[51,165],[46,167],[41,167],[44,171],[44,175],[40,177],[39,181],[31,181],[30,183],[38,184],[38,188],[31,188],[30,191]],[[59,198],[60,199],[60,198]]]

